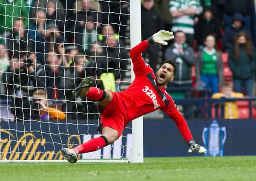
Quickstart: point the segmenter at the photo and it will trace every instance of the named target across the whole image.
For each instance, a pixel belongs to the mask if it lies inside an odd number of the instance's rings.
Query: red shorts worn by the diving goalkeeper
[[[110,91],[110,90],[109,90]],[[112,101],[101,112],[102,128],[108,126],[118,131],[118,137],[124,131],[126,120],[126,109],[120,95],[110,91],[113,95]]]

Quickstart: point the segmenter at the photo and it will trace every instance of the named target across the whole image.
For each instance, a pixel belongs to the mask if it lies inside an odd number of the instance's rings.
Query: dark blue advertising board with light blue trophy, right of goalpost
[[[207,148],[208,156],[256,155],[255,120],[187,120],[187,124],[196,142]],[[173,121],[145,120],[144,156],[201,155],[187,152],[187,143]]]

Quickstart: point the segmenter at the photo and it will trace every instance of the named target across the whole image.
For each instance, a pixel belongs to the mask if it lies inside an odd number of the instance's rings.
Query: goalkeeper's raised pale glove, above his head
[[[168,43],[165,42],[165,41],[168,41],[168,40],[171,40],[171,39],[174,39],[173,32],[161,30],[161,31],[158,31],[157,33],[153,34],[152,36],[150,36],[147,39],[147,42],[150,45],[152,45],[154,43],[159,43],[159,44],[162,44],[162,45],[168,45]]]

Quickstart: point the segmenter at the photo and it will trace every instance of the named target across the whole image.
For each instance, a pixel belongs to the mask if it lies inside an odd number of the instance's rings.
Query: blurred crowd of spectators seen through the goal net
[[[21,108],[34,104],[43,115],[49,104],[67,119],[98,119],[97,104],[72,90],[95,76],[95,86],[119,91],[129,60],[128,7],[128,1],[0,0],[0,94],[15,118],[33,119]],[[40,95],[47,101],[35,103]]]

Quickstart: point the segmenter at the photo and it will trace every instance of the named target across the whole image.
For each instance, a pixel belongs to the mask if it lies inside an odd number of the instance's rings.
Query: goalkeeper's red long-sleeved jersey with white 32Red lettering
[[[135,79],[125,91],[116,93],[122,97],[127,110],[125,125],[137,117],[161,109],[174,120],[186,141],[193,139],[187,122],[178,111],[172,97],[164,87],[156,84],[153,70],[141,56],[149,46],[147,40],[144,40],[130,50]]]

